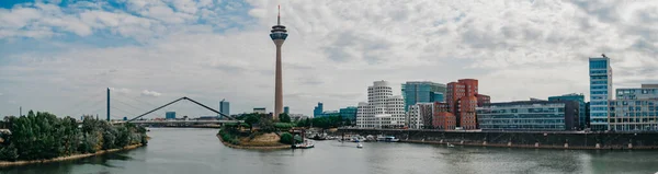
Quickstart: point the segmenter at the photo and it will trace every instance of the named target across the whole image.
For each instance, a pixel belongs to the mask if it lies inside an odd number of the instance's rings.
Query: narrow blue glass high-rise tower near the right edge
[[[610,58],[589,58],[590,126],[592,130],[610,130],[609,101],[612,100],[612,68]]]

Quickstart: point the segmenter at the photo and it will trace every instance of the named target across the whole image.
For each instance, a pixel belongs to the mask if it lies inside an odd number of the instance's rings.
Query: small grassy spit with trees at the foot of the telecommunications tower
[[[306,118],[292,121],[287,114],[281,114],[273,120],[266,114],[242,114],[237,117],[241,124],[226,124],[217,132],[219,140],[227,147],[236,149],[290,149],[291,144],[302,142],[302,137],[293,136],[292,129],[310,127],[329,129],[350,125],[350,119],[340,116]]]

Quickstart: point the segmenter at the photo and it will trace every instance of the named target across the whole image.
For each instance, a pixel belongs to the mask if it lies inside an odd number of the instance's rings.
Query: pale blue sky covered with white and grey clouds
[[[397,95],[406,81],[478,79],[492,102],[589,97],[601,54],[615,89],[658,83],[657,1],[3,0],[0,115],[104,117],[107,88],[112,118],[182,96],[272,112],[277,4],[295,114],[355,106],[377,80]],[[147,117],[167,111],[215,115],[179,102]]]

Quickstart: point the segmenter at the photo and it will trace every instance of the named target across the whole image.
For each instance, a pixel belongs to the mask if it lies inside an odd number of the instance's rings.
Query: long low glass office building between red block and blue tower
[[[483,130],[563,131],[578,127],[576,101],[519,101],[477,108]]]

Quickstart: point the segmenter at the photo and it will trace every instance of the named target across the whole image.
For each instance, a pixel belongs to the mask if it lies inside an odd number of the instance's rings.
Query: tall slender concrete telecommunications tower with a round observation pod
[[[281,25],[281,5],[279,7],[279,15],[276,16],[276,25],[272,26],[270,37],[276,45],[276,78],[274,82],[274,119],[279,119],[279,114],[283,113],[283,82],[281,74],[281,46],[287,37],[285,26]]]

